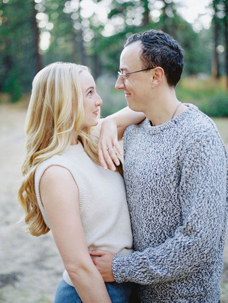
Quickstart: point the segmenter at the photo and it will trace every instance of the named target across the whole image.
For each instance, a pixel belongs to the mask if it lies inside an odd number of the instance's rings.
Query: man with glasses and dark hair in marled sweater
[[[116,88],[124,90],[129,108],[146,116],[124,133],[134,253],[95,250],[91,255],[101,257],[94,264],[104,281],[138,283],[141,303],[217,303],[228,204],[226,148],[210,118],[177,100],[183,54],[169,35],[132,35],[120,70]],[[113,148],[103,152],[112,165]]]

